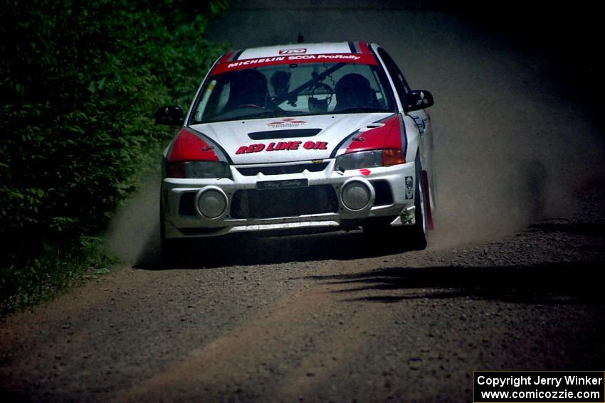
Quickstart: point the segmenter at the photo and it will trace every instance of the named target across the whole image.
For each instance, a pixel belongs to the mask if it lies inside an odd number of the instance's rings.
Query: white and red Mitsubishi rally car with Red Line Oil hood
[[[298,43],[223,55],[164,151],[164,252],[231,232],[401,226],[426,247],[434,206],[430,92],[379,45]]]

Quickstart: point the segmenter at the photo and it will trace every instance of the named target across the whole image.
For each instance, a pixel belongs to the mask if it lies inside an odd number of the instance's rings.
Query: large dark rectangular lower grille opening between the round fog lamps
[[[275,190],[238,190],[231,200],[231,218],[278,218],[336,213],[338,199],[330,185]]]

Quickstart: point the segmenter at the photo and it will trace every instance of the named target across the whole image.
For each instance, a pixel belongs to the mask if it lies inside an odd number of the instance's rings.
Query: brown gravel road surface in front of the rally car
[[[473,370],[605,363],[602,224],[545,223],[446,250],[355,233],[233,242],[227,264],[188,268],[199,250],[180,269],[122,267],[7,318],[3,393],[464,402]]]

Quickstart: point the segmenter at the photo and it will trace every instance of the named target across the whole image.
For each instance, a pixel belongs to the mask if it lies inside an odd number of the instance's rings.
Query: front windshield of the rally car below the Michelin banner
[[[394,109],[377,65],[292,63],[212,75],[199,92],[191,124]]]

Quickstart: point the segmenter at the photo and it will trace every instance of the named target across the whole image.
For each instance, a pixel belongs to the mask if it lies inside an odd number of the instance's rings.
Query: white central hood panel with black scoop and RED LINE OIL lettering
[[[223,149],[234,164],[333,158],[343,141],[392,113],[327,114],[191,125]]]

